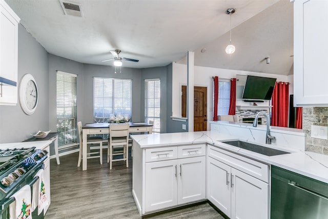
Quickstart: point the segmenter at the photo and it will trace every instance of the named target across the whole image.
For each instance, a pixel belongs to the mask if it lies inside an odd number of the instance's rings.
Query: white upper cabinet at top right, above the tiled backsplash
[[[294,106],[328,106],[328,1],[294,1]]]

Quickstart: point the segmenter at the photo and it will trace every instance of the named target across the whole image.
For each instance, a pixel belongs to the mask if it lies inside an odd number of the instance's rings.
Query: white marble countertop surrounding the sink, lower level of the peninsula
[[[238,138],[232,135],[222,135],[216,131],[141,134],[131,135],[131,137],[141,148],[207,143],[266,164],[275,165],[328,183],[328,156],[323,154],[301,151],[288,147],[259,144],[261,146],[290,152],[289,154],[266,156],[224,144],[222,142],[238,140]]]

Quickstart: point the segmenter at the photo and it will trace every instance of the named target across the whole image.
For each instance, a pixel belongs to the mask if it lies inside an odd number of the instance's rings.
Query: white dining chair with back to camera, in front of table
[[[116,161],[126,161],[127,167],[129,167],[129,127],[129,123],[109,125],[107,163],[109,162],[110,170],[112,163]],[[114,159],[116,155],[123,155],[123,158]]]

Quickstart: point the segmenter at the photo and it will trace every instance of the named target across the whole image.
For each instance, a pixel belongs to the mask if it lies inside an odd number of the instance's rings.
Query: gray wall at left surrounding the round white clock
[[[38,104],[32,115],[16,106],[0,106],[0,143],[22,142],[38,130],[49,130],[48,53],[22,25],[18,25],[18,81],[23,75],[33,75],[39,93]]]

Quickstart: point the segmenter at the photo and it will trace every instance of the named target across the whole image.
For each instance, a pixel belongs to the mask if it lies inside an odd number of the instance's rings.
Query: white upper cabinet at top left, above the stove
[[[17,104],[19,17],[0,0],[0,105]]]

